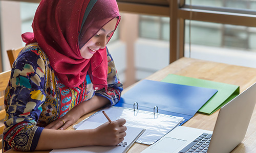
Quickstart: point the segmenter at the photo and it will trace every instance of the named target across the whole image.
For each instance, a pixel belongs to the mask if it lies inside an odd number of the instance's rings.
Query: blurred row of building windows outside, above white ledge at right
[[[185,42],[189,43],[189,21],[186,20]],[[191,43],[242,50],[256,50],[256,28],[240,25],[191,21]]]

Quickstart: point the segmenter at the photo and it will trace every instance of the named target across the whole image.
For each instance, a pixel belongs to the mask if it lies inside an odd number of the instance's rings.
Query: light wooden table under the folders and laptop
[[[234,66],[223,63],[208,62],[203,60],[196,60],[190,58],[181,58],[167,67],[157,71],[152,74],[150,77],[147,77],[148,80],[161,81],[168,74],[178,74],[185,77],[192,77],[210,81],[216,81],[221,83],[233,84],[240,86],[240,93],[247,89],[250,85],[256,82],[256,69],[242,66]],[[131,86],[132,87],[132,86]],[[131,87],[124,90],[127,91]],[[256,94],[256,92],[255,92]],[[246,136],[241,144],[233,149],[234,152],[256,152],[256,108],[254,112],[246,133]],[[204,130],[214,130],[214,125],[218,116],[216,111],[211,115],[203,115],[196,113],[196,115],[188,120],[183,126],[190,126]],[[90,116],[92,113],[84,115],[80,120]],[[72,127],[69,127],[68,130],[74,130]],[[135,143],[128,153],[139,153],[144,150],[148,145]],[[17,153],[19,151],[9,150],[8,153],[13,152]],[[46,153],[50,151],[34,151],[37,153]]]

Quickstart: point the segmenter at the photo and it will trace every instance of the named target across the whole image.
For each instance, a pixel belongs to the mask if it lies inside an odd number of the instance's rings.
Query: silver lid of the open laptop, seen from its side
[[[230,152],[242,142],[255,103],[256,83],[220,109],[208,153]]]

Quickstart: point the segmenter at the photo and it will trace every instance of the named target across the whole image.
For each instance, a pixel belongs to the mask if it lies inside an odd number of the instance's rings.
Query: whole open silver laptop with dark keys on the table
[[[227,153],[245,137],[256,103],[256,83],[224,105],[214,131],[178,126],[141,153]]]

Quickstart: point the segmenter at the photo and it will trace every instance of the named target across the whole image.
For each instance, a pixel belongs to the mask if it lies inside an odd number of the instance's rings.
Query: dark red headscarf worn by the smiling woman
[[[116,17],[117,27],[116,0],[42,0],[32,23],[33,33],[24,33],[22,38],[27,44],[39,44],[66,86],[79,86],[89,73],[95,90],[102,89],[107,86],[106,48],[91,59],[82,58],[80,48]]]

